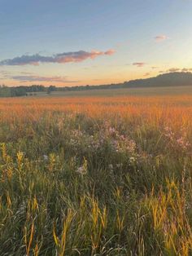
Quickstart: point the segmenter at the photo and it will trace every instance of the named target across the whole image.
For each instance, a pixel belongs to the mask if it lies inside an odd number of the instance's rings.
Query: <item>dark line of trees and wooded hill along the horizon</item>
[[[100,85],[100,86],[0,86],[0,97],[18,97],[37,95],[38,92],[50,94],[53,91],[68,90],[97,90],[97,89],[117,89],[117,88],[138,88],[138,87],[155,87],[155,86],[192,86],[192,73],[175,72],[164,73],[157,77],[146,79],[136,79],[129,82],[118,84]]]

